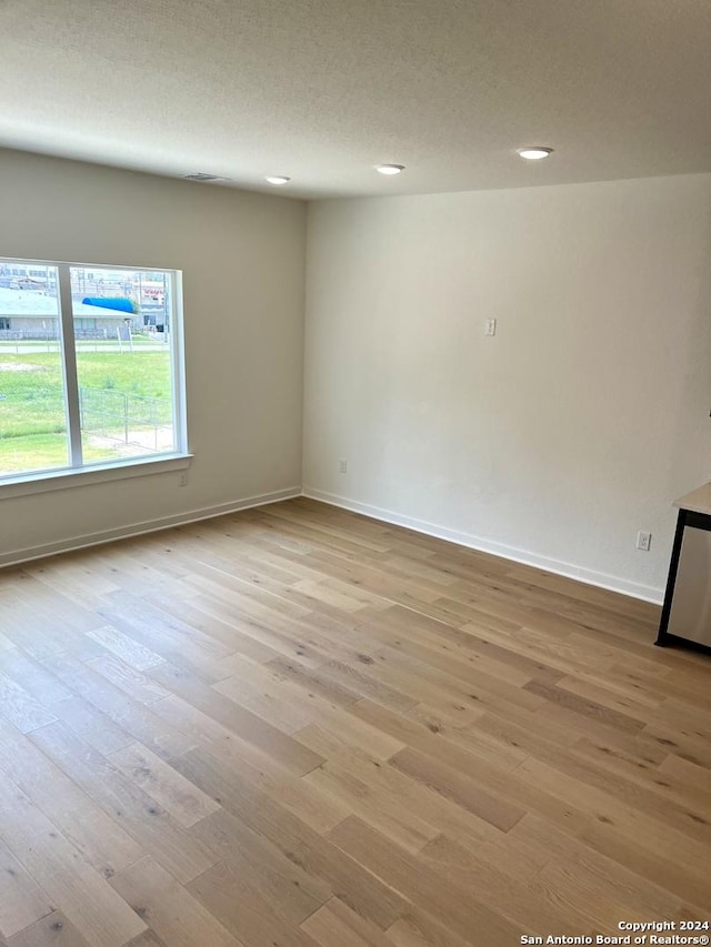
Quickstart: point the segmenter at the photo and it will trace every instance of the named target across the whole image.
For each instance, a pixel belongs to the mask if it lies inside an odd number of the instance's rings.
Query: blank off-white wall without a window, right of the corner
[[[711,470],[711,175],[314,203],[307,259],[308,493],[661,595]]]

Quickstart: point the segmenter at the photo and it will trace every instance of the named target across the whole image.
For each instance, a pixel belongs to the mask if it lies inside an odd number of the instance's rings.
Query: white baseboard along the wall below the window
[[[251,506],[266,506],[268,503],[291,500],[293,496],[301,496],[300,486],[291,486],[287,490],[278,490],[272,493],[260,493],[257,496],[247,496],[244,500],[221,503],[217,506],[203,506],[201,510],[189,510],[186,513],[177,513],[174,516],[163,516],[158,520],[130,523],[127,526],[119,526],[116,530],[86,533],[82,536],[72,536],[69,540],[60,540],[56,543],[28,546],[23,550],[0,553],[0,566],[19,565],[23,562],[43,558],[44,556],[56,555],[57,553],[68,553],[76,550],[83,550],[88,546],[98,546],[102,543],[109,543],[112,540],[127,540],[130,536],[141,536],[144,533],[157,533],[159,530],[170,530],[171,526],[197,523],[199,520],[211,520],[213,516],[237,513],[239,510],[249,510]]]

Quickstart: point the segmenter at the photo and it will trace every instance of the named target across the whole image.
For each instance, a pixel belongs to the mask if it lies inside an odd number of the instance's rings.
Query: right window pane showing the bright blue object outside
[[[70,275],[84,463],[174,451],[171,274]]]

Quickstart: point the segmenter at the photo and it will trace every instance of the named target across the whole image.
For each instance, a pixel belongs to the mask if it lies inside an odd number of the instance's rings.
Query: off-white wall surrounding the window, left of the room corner
[[[298,491],[306,204],[13,151],[0,192],[0,256],[183,271],[194,453],[186,487],[177,473],[14,500],[0,487],[0,562]]]

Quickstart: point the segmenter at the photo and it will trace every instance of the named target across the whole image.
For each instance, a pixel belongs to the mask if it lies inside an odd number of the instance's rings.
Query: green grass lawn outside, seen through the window
[[[123,437],[130,430],[171,423],[170,353],[78,352],[87,389],[83,446],[87,460],[120,456],[91,434]],[[160,401],[143,401],[160,399]],[[59,353],[0,351],[0,475],[67,463],[63,381]]]

